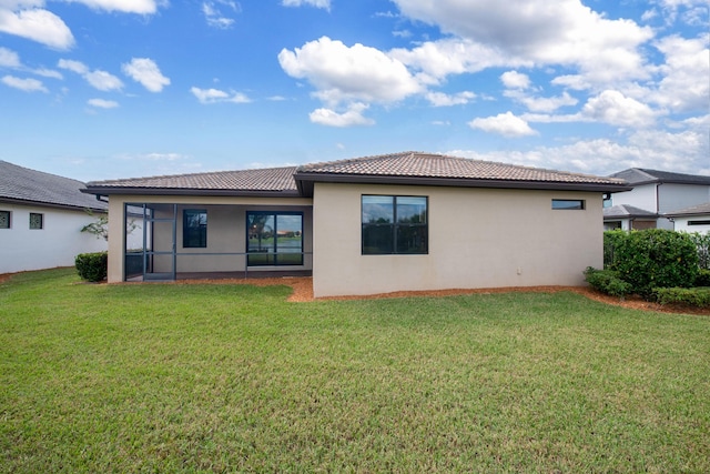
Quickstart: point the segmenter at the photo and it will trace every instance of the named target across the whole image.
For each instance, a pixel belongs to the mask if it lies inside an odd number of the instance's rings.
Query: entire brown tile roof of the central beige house
[[[613,178],[567,173],[442,154],[403,152],[245,171],[88,183],[97,194],[313,195],[314,182],[628,191]]]

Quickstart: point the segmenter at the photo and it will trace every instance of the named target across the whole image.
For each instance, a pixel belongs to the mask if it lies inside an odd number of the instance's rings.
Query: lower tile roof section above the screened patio
[[[190,190],[224,192],[296,192],[293,174],[296,167],[267,168],[242,171],[175,174],[166,177],[133,178],[125,180],[92,181],[87,186],[101,190]]]

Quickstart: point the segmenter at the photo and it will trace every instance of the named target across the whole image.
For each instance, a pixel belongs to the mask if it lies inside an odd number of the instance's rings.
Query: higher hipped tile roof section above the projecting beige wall
[[[298,168],[296,179],[306,178],[308,174],[601,184],[620,188],[626,184],[623,180],[613,178],[414,151],[306,164]]]

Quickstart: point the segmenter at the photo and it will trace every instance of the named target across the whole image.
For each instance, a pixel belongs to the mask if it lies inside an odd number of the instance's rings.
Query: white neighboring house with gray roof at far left
[[[106,242],[81,229],[108,204],[81,192],[81,181],[0,161],[0,273],[71,266]]]

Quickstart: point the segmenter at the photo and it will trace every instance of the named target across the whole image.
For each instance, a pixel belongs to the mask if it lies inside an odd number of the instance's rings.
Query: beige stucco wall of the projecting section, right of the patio
[[[362,255],[363,194],[428,196],[426,255]],[[584,211],[551,209],[582,199]],[[316,183],[315,296],[580,285],[602,264],[601,193]]]

